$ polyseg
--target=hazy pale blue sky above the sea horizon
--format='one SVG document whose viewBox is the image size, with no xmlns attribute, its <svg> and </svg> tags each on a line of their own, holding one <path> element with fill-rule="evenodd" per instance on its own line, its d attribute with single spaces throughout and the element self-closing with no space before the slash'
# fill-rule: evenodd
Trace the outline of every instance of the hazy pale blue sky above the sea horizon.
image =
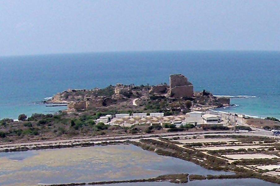
<svg viewBox="0 0 280 186">
<path fill-rule="evenodd" d="M 280 0 L 0 0 L 0 56 L 280 50 Z"/>
</svg>

